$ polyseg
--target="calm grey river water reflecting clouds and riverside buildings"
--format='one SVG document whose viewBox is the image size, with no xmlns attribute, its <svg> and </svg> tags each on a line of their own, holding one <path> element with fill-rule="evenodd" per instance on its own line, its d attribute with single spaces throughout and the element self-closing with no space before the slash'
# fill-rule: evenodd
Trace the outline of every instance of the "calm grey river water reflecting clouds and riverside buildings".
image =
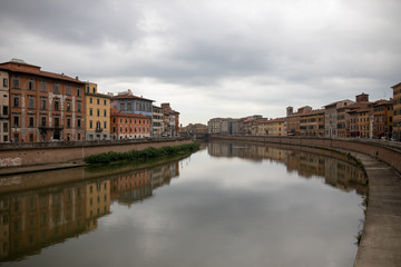
<svg viewBox="0 0 401 267">
<path fill-rule="evenodd" d="M 209 142 L 149 168 L 0 177 L 0 265 L 352 266 L 363 171 L 287 149 Z"/>
</svg>

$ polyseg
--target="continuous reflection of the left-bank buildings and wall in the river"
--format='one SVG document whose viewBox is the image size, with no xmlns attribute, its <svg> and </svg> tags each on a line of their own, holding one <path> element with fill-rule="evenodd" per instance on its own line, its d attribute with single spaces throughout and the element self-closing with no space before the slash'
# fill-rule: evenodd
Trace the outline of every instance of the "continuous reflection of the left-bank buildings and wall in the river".
<svg viewBox="0 0 401 267">
<path fill-rule="evenodd" d="M 43 247 L 92 231 L 98 219 L 110 214 L 113 201 L 130 207 L 169 184 L 178 171 L 175 161 L 111 178 L 94 179 L 96 175 L 82 168 L 0 178 L 0 260 L 39 254 Z M 62 184 L 68 179 L 72 182 Z"/>
</svg>

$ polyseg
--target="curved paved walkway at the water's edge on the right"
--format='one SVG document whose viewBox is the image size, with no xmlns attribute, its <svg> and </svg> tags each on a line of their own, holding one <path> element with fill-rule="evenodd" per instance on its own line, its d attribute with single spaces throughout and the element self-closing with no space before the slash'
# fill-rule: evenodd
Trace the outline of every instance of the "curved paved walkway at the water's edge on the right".
<svg viewBox="0 0 401 267">
<path fill-rule="evenodd" d="M 369 178 L 368 212 L 354 267 L 400 267 L 401 176 L 369 156 L 354 156 Z"/>
</svg>

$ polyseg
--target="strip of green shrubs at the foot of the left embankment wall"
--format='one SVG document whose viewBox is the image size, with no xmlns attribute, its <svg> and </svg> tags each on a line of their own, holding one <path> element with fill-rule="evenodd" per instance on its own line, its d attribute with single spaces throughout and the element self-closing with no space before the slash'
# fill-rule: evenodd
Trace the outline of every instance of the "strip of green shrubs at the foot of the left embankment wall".
<svg viewBox="0 0 401 267">
<path fill-rule="evenodd" d="M 85 157 L 85 162 L 89 165 L 111 164 L 117 161 L 145 161 L 149 159 L 172 157 L 178 154 L 194 152 L 199 149 L 198 142 L 180 145 L 176 147 L 146 148 L 144 150 L 131 150 L 128 152 L 106 152 Z"/>
</svg>

